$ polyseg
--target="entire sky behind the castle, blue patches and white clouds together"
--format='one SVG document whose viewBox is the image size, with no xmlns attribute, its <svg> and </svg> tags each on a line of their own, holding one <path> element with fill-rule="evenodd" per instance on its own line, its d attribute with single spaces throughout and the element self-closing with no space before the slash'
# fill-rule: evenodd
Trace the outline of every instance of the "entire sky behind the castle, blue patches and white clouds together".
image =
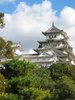
<svg viewBox="0 0 75 100">
<path fill-rule="evenodd" d="M 32 53 L 37 41 L 45 39 L 41 32 L 54 22 L 67 33 L 75 52 L 74 4 L 75 0 L 0 0 L 0 12 L 5 14 L 0 36 L 20 42 L 26 53 Z"/>
</svg>

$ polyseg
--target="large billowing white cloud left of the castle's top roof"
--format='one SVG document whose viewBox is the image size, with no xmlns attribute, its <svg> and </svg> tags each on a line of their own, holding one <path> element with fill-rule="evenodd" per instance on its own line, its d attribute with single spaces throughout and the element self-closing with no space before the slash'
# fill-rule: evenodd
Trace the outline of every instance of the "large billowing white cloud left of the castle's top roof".
<svg viewBox="0 0 75 100">
<path fill-rule="evenodd" d="M 54 12 L 49 1 L 34 4 L 31 7 L 21 2 L 13 14 L 5 14 L 6 25 L 5 29 L 1 30 L 2 36 L 6 39 L 21 41 L 25 49 L 35 48 L 37 40 L 44 37 L 41 31 L 52 22 L 53 16 Z"/>
</svg>

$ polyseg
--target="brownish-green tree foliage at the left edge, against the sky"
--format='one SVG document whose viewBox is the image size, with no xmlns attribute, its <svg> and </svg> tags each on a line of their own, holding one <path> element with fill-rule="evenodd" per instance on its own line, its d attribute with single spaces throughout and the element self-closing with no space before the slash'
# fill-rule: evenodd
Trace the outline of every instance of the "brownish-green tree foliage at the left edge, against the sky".
<svg viewBox="0 0 75 100">
<path fill-rule="evenodd" d="M 4 13 L 0 13 L 0 27 L 4 27 Z M 0 37 L 0 58 L 13 58 L 12 42 Z"/>
</svg>

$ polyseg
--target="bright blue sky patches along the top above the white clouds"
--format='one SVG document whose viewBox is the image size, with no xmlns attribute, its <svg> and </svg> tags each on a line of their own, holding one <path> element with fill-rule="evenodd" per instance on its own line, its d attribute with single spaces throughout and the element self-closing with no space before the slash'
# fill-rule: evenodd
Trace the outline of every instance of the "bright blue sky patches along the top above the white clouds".
<svg viewBox="0 0 75 100">
<path fill-rule="evenodd" d="M 16 0 L 15 2 L 4 2 L 0 3 L 0 12 L 4 13 L 13 13 L 16 9 L 16 6 L 20 2 L 26 2 L 27 5 L 32 6 L 34 3 L 38 4 L 44 0 Z M 59 15 L 60 11 L 65 7 L 69 6 L 75 9 L 75 0 L 50 0 L 52 3 L 52 7 L 54 10 L 57 10 L 57 15 Z"/>
</svg>

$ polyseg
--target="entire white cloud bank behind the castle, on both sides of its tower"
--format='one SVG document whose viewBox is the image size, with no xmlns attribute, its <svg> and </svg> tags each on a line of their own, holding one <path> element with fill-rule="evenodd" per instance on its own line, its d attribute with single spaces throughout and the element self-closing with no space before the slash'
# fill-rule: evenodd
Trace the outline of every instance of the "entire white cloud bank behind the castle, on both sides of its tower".
<svg viewBox="0 0 75 100">
<path fill-rule="evenodd" d="M 51 27 L 52 22 L 58 28 L 63 28 L 68 32 L 70 44 L 75 51 L 75 9 L 65 7 L 56 16 L 56 11 L 52 9 L 49 0 L 41 4 L 28 6 L 25 2 L 20 2 L 13 14 L 5 14 L 6 26 L 1 30 L 1 35 L 5 39 L 20 41 L 22 46 L 29 52 L 38 47 L 37 40 L 42 40 L 44 36 L 41 31 L 46 31 Z"/>
</svg>

